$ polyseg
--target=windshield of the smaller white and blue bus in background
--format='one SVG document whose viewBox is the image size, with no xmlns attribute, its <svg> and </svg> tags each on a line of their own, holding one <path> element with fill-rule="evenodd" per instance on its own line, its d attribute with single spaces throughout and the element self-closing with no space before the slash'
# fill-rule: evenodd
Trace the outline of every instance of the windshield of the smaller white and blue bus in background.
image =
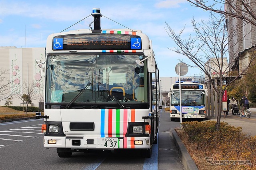
<svg viewBox="0 0 256 170">
<path fill-rule="evenodd" d="M 199 90 L 182 90 L 181 103 L 188 106 L 205 106 L 204 91 Z M 172 90 L 171 92 L 171 105 L 180 105 L 180 92 L 179 90 Z"/>
</svg>

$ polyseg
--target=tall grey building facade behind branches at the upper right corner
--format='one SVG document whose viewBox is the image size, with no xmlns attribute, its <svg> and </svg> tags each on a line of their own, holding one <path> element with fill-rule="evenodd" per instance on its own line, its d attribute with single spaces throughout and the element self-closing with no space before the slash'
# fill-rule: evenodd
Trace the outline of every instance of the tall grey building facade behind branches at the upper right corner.
<svg viewBox="0 0 256 170">
<path fill-rule="evenodd" d="M 246 10 L 241 4 L 241 0 L 229 1 L 229 3 L 232 3 L 236 8 L 226 3 L 225 10 L 227 12 L 236 14 L 239 10 L 240 13 L 243 13 L 247 18 L 252 18 L 249 14 L 242 12 Z M 252 11 L 256 10 L 256 0 L 246 1 L 246 3 L 250 5 Z M 231 69 L 232 71 L 241 73 L 248 66 L 250 57 L 255 51 L 256 26 L 243 21 L 241 18 L 232 16 L 227 16 L 226 21 L 229 40 L 229 61 L 232 63 Z"/>
</svg>

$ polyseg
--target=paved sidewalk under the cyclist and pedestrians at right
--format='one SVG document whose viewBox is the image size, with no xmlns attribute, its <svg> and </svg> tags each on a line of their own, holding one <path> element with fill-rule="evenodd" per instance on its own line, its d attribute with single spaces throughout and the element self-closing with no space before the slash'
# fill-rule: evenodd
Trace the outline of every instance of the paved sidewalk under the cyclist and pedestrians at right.
<svg viewBox="0 0 256 170">
<path fill-rule="evenodd" d="M 221 122 L 227 122 L 228 125 L 235 126 L 235 127 L 242 127 L 242 132 L 250 134 L 252 136 L 256 135 L 256 109 L 251 108 L 251 117 L 247 119 L 246 117 L 240 118 L 240 115 L 232 115 L 231 110 L 229 111 L 229 115 L 226 115 L 224 118 L 224 113 L 222 112 L 221 115 Z M 207 121 L 214 120 L 217 121 L 217 117 L 207 117 Z"/>
</svg>

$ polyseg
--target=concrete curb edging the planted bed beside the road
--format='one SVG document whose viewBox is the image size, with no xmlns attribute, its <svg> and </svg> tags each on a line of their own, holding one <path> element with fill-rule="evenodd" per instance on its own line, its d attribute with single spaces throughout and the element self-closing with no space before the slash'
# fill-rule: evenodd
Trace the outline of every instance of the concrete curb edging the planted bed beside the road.
<svg viewBox="0 0 256 170">
<path fill-rule="evenodd" d="M 178 150 L 178 154 L 180 156 L 180 160 L 185 168 L 185 170 L 198 170 L 194 160 L 191 158 L 190 154 L 188 153 L 187 148 L 182 143 L 180 137 L 178 136 L 177 132 L 174 128 L 171 128 L 170 135 L 172 140 Z"/>
</svg>

